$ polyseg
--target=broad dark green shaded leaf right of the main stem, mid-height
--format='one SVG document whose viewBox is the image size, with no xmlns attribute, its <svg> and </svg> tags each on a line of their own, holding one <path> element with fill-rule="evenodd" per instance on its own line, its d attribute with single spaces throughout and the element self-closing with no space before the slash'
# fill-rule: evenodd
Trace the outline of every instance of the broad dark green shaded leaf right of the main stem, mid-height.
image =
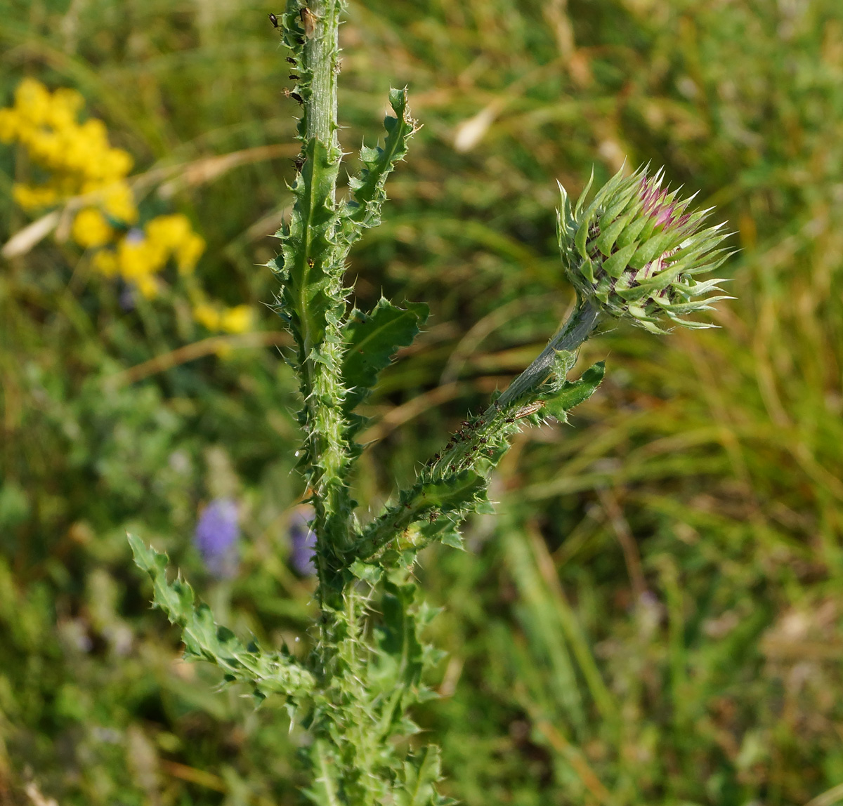
<svg viewBox="0 0 843 806">
<path fill-rule="evenodd" d="M 347 349 L 342 363 L 343 382 L 349 392 L 346 412 L 364 400 L 378 379 L 379 371 L 389 366 L 399 347 L 407 347 L 427 322 L 429 308 L 424 302 L 393 305 L 381 297 L 371 313 L 355 308 L 346 323 Z"/>
</svg>

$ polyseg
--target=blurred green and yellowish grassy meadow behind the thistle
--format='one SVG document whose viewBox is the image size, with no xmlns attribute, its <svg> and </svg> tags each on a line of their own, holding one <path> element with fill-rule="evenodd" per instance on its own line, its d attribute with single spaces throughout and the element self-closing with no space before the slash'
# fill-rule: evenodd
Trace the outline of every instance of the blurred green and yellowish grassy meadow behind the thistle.
<svg viewBox="0 0 843 806">
<path fill-rule="evenodd" d="M 77 88 L 136 173 L 169 167 L 144 209 L 191 218 L 202 283 L 259 312 L 257 335 L 208 342 L 177 297 L 121 308 L 72 243 L 0 264 L 0 803 L 298 803 L 303 736 L 180 662 L 125 538 L 168 550 L 239 633 L 308 643 L 298 403 L 258 265 L 295 152 L 253 151 L 292 143 L 296 113 L 271 11 L 0 0 L 0 105 L 25 76 Z M 839 0 L 353 0 L 341 36 L 346 151 L 379 136 L 389 83 L 423 123 L 349 271 L 361 307 L 432 306 L 370 401 L 373 507 L 570 306 L 556 179 L 577 194 L 592 165 L 663 163 L 741 249 L 720 329 L 607 328 L 581 356 L 607 380 L 573 427 L 521 435 L 497 517 L 470 523 L 468 552 L 424 555 L 448 657 L 420 718 L 444 791 L 843 801 Z M 11 200 L 28 170 L 0 147 L 3 242 L 30 220 Z M 222 581 L 192 544 L 220 497 L 243 527 Z"/>
</svg>

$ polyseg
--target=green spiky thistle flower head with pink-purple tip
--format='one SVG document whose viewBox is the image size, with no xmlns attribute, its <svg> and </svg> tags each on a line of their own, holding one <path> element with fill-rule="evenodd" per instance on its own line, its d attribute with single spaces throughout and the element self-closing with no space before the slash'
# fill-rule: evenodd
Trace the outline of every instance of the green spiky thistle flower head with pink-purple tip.
<svg viewBox="0 0 843 806">
<path fill-rule="evenodd" d="M 670 323 L 711 327 L 685 317 L 731 298 L 706 296 L 721 291 L 724 280 L 696 279 L 731 254 L 718 248 L 728 232 L 723 224 L 704 227 L 711 211 L 690 211 L 693 196 L 680 199 L 663 179 L 663 170 L 619 172 L 587 204 L 589 180 L 573 209 L 560 184 L 562 263 L 577 294 L 611 316 L 631 318 L 652 333 L 664 333 Z"/>
</svg>

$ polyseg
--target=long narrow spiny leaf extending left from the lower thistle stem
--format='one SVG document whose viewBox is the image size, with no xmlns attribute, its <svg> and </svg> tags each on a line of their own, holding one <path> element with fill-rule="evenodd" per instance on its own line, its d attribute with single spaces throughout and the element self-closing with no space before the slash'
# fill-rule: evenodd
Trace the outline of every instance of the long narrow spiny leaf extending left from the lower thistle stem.
<svg viewBox="0 0 843 806">
<path fill-rule="evenodd" d="M 267 652 L 256 644 L 244 647 L 228 627 L 217 626 L 207 605 L 196 606 L 189 584 L 180 578 L 172 583 L 167 581 L 166 554 L 147 547 L 137 536 L 128 538 L 135 563 L 153 580 L 154 606 L 181 627 L 186 655 L 216 664 L 227 681 L 243 681 L 254 686 L 259 701 L 270 693 L 295 697 L 313 691 L 315 681 L 308 670 L 287 655 Z"/>
</svg>

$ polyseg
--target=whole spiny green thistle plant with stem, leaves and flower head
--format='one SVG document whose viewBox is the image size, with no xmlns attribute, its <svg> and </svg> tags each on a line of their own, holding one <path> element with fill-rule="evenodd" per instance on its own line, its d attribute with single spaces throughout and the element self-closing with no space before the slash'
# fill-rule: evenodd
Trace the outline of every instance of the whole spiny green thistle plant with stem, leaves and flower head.
<svg viewBox="0 0 843 806">
<path fill-rule="evenodd" d="M 363 147 L 362 168 L 337 195 L 343 157 L 338 141 L 336 82 L 340 0 L 288 0 L 272 21 L 295 64 L 288 94 L 301 105 L 301 153 L 289 221 L 277 233 L 280 254 L 268 264 L 280 286 L 277 312 L 293 335 L 290 360 L 303 408 L 298 467 L 312 507 L 317 577 L 314 648 L 305 659 L 286 647 L 242 643 L 218 626 L 185 580 L 168 580 L 164 554 L 130 536 L 137 564 L 153 579 L 154 603 L 182 628 L 185 654 L 218 665 L 228 682 L 250 686 L 255 702 L 282 697 L 290 718 L 309 733 L 304 791 L 322 806 L 448 803 L 437 791 L 438 749 L 414 738 L 412 707 L 436 695 L 426 672 L 441 657 L 425 643 L 434 611 L 413 576 L 418 552 L 435 542 L 460 547 L 464 520 L 490 511 L 491 472 L 513 435 L 556 419 L 589 398 L 604 365 L 568 379 L 577 349 L 601 319 L 625 318 L 652 331 L 708 307 L 720 280 L 697 275 L 727 257 L 722 227 L 703 228 L 706 211 L 663 188 L 663 176 L 619 173 L 572 209 L 562 190 L 561 262 L 577 290 L 571 317 L 545 350 L 482 414 L 443 435 L 443 446 L 416 483 L 374 517 L 352 499 L 351 478 L 362 446 L 357 407 L 395 351 L 411 344 L 427 318 L 423 302 L 381 299 L 351 308 L 346 260 L 368 227 L 377 226 L 385 183 L 417 129 L 404 89 L 389 93 L 392 114 L 378 147 Z M 714 297 L 717 299 L 720 297 Z"/>
</svg>

